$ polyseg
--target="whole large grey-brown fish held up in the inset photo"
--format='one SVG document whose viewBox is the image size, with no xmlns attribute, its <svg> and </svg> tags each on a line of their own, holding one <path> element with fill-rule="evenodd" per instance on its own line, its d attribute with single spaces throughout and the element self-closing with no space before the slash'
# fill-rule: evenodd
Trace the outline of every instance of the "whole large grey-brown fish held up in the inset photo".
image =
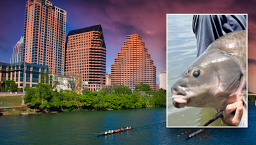
<svg viewBox="0 0 256 145">
<path fill-rule="evenodd" d="M 212 42 L 172 86 L 173 106 L 224 110 L 241 92 L 244 108 L 239 126 L 246 127 L 246 37 L 246 31 L 236 31 Z"/>
</svg>

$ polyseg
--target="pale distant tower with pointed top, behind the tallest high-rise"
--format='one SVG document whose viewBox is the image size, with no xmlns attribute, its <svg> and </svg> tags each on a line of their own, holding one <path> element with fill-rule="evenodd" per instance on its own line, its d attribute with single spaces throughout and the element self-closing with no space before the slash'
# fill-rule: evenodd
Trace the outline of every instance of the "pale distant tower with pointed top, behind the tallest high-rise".
<svg viewBox="0 0 256 145">
<path fill-rule="evenodd" d="M 23 37 L 21 36 L 20 41 L 16 43 L 16 45 L 13 47 L 13 53 L 12 58 L 10 59 L 10 63 L 19 63 L 22 60 L 22 53 L 23 53 Z"/>
</svg>

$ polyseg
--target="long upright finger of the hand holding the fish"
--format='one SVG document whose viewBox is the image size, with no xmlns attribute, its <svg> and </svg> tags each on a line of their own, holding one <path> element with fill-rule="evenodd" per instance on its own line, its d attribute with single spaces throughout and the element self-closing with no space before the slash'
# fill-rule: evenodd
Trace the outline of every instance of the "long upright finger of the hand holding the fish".
<svg viewBox="0 0 256 145">
<path fill-rule="evenodd" d="M 243 115 L 243 99 L 242 93 L 237 94 L 237 109 L 234 118 L 232 119 L 232 123 L 234 125 L 239 125 L 241 117 Z"/>
</svg>

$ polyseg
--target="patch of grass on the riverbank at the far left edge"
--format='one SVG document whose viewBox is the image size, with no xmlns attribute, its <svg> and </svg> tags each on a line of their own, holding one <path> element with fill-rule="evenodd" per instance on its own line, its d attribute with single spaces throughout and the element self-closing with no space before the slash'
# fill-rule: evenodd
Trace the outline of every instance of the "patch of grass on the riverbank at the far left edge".
<svg viewBox="0 0 256 145">
<path fill-rule="evenodd" d="M 22 106 L 21 104 L 22 104 L 21 95 L 0 97 L 0 107 Z"/>
</svg>

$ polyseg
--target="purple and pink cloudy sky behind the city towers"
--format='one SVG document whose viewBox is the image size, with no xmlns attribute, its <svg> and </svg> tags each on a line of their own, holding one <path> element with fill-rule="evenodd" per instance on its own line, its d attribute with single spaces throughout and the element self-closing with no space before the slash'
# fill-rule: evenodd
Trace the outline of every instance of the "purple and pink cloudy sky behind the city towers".
<svg viewBox="0 0 256 145">
<path fill-rule="evenodd" d="M 124 46 L 126 36 L 139 34 L 159 72 L 166 71 L 166 13 L 248 13 L 248 86 L 256 92 L 256 2 L 227 1 L 154 1 L 154 0 L 51 0 L 67 11 L 67 32 L 102 25 L 107 47 L 106 71 Z M 225 3 L 224 3 L 225 2 Z M 13 46 L 23 35 L 26 0 L 1 1 L 0 62 L 10 62 Z M 67 36 L 67 34 L 66 34 Z M 255 78 L 255 79 L 254 79 Z"/>
</svg>

